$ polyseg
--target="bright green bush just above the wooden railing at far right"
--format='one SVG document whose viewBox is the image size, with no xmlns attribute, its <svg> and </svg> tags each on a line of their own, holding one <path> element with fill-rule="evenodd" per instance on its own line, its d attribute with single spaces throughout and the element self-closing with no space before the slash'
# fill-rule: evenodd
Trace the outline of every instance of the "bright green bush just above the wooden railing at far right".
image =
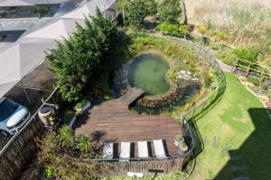
<svg viewBox="0 0 271 180">
<path fill-rule="evenodd" d="M 257 56 L 259 54 L 259 49 L 248 47 L 248 48 L 238 48 L 234 49 L 234 53 L 237 58 L 248 60 L 250 62 L 256 62 Z"/>
</svg>

